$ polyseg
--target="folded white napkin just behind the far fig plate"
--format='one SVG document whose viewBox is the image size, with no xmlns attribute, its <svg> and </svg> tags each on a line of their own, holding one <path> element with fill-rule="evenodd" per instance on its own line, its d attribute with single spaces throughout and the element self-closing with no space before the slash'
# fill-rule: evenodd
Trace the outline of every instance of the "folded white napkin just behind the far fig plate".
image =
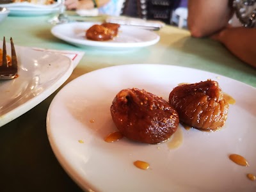
<svg viewBox="0 0 256 192">
<path fill-rule="evenodd" d="M 107 17 L 106 22 L 112 22 L 116 24 L 138 26 L 145 29 L 161 29 L 165 25 L 160 20 L 144 20 L 132 17 Z"/>
</svg>

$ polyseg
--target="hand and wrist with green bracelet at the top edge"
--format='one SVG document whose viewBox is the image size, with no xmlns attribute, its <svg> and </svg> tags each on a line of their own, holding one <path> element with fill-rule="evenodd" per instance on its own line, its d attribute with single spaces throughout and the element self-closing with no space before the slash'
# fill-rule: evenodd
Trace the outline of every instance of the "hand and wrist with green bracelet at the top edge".
<svg viewBox="0 0 256 192">
<path fill-rule="evenodd" d="M 97 6 L 101 7 L 104 6 L 109 2 L 109 0 L 96 0 Z M 85 9 L 85 10 L 90 10 L 94 8 L 94 3 L 93 0 L 66 0 L 65 5 L 67 7 L 67 10 L 72 10 L 72 9 Z"/>
</svg>

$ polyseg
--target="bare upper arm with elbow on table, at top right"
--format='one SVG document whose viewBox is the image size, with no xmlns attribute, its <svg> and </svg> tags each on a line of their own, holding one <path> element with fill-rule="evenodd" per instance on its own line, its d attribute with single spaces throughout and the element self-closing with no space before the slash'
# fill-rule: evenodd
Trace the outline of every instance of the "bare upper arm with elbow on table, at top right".
<svg viewBox="0 0 256 192">
<path fill-rule="evenodd" d="M 228 0 L 189 0 L 188 28 L 194 37 L 209 36 L 224 28 L 232 16 Z"/>
</svg>

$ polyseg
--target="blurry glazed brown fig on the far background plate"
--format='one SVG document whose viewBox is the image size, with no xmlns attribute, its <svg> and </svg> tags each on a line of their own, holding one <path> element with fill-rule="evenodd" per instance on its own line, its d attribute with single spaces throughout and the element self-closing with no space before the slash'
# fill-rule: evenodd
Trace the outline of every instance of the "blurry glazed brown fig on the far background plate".
<svg viewBox="0 0 256 192">
<path fill-rule="evenodd" d="M 113 39 L 117 33 L 119 24 L 95 24 L 86 31 L 86 38 L 94 41 L 106 41 Z"/>
</svg>

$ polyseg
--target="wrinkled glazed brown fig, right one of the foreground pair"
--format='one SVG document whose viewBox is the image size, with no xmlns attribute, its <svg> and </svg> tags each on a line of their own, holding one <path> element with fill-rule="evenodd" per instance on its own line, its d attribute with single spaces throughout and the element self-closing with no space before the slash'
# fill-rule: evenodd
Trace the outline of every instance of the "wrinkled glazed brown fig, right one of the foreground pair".
<svg viewBox="0 0 256 192">
<path fill-rule="evenodd" d="M 228 114 L 228 102 L 218 82 L 211 79 L 175 87 L 169 102 L 177 110 L 180 122 L 202 131 L 220 129 Z"/>
</svg>

